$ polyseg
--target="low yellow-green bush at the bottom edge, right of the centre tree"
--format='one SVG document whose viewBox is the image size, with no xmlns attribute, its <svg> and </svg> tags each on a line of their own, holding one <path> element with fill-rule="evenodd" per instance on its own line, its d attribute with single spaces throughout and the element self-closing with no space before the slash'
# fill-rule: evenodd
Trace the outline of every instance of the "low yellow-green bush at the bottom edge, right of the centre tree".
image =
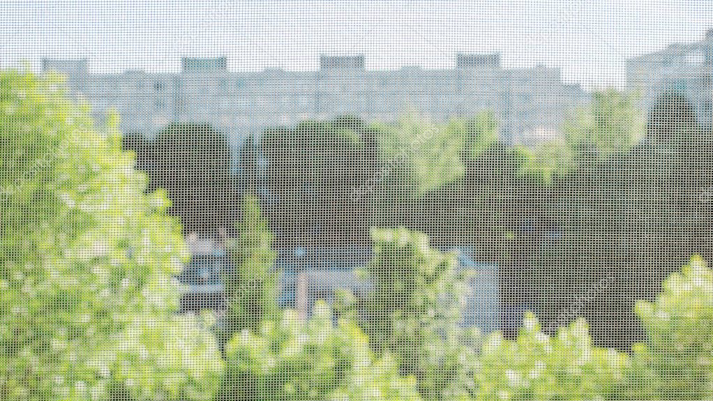
<svg viewBox="0 0 713 401">
<path fill-rule="evenodd" d="M 596 348 L 578 320 L 550 337 L 525 317 L 517 340 L 493 333 L 476 368 L 477 400 L 607 400 L 627 367 L 627 355 Z"/>
</svg>

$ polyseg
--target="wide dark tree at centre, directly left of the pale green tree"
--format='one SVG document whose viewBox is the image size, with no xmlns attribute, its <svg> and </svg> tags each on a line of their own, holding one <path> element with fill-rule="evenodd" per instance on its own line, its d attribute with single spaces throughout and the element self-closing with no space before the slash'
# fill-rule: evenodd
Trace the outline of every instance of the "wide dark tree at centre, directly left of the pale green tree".
<svg viewBox="0 0 713 401">
<path fill-rule="evenodd" d="M 265 212 L 274 231 L 297 241 L 365 237 L 379 175 L 376 132 L 358 118 L 304 121 L 266 130 L 260 138 Z"/>
</svg>

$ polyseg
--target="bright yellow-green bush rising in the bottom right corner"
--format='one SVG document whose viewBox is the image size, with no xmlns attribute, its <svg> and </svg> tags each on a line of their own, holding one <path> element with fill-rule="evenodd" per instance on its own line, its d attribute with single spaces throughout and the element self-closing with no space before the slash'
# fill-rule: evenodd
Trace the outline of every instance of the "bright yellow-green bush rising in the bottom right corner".
<svg viewBox="0 0 713 401">
<path fill-rule="evenodd" d="M 627 398 L 713 397 L 713 272 L 703 259 L 694 256 L 655 302 L 637 303 L 636 313 L 647 341 L 634 346 Z"/>
</svg>

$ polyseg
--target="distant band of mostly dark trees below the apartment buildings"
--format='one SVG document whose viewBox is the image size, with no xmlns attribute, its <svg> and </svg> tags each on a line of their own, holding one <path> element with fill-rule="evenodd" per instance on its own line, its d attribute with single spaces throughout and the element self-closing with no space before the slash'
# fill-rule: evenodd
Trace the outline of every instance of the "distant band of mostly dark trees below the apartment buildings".
<svg viewBox="0 0 713 401">
<path fill-rule="evenodd" d="M 237 174 L 227 140 L 207 125 L 128 135 L 124 147 L 149 189 L 167 190 L 186 231 L 230 235 L 248 193 L 277 246 L 368 244 L 372 226 L 418 229 L 501 266 L 504 306 L 533 308 L 550 331 L 585 316 L 602 345 L 640 340 L 635 300 L 652 299 L 691 254 L 713 256 L 713 133 L 677 93 L 646 116 L 630 95 L 595 93 L 560 137 L 534 148 L 498 140 L 490 113 L 277 127 L 245 141 Z"/>
</svg>

